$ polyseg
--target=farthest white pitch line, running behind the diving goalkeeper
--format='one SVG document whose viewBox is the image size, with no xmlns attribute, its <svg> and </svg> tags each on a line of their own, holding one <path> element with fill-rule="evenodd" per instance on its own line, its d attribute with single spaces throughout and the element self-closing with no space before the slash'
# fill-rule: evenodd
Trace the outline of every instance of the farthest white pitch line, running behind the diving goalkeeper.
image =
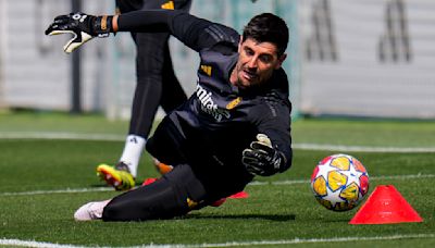
<svg viewBox="0 0 435 248">
<path fill-rule="evenodd" d="M 124 141 L 123 135 L 111 134 L 77 134 L 63 132 L 0 132 L 0 139 L 70 139 L 96 141 Z M 339 146 L 331 144 L 293 144 L 297 150 L 320 150 L 341 152 L 397 152 L 418 153 L 435 152 L 435 147 L 372 147 L 372 146 Z"/>
</svg>

